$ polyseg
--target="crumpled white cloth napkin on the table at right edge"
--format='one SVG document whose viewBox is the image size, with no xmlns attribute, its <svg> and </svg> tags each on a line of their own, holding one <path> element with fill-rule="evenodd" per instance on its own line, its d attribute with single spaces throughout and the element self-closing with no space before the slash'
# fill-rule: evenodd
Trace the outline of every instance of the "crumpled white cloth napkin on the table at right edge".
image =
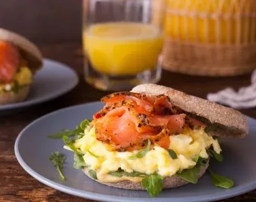
<svg viewBox="0 0 256 202">
<path fill-rule="evenodd" d="M 235 91 L 225 88 L 217 93 L 209 93 L 207 99 L 236 109 L 256 106 L 256 70 L 252 74 L 252 84 Z"/>
</svg>

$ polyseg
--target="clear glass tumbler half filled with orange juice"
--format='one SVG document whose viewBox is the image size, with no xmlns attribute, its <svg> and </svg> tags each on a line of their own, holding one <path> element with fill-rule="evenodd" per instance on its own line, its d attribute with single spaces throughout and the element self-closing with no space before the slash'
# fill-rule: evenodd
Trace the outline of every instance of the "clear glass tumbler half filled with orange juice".
<svg viewBox="0 0 256 202">
<path fill-rule="evenodd" d="M 83 0 L 86 82 L 120 91 L 159 81 L 163 23 L 156 19 L 160 14 L 152 14 L 156 1 Z"/>
</svg>

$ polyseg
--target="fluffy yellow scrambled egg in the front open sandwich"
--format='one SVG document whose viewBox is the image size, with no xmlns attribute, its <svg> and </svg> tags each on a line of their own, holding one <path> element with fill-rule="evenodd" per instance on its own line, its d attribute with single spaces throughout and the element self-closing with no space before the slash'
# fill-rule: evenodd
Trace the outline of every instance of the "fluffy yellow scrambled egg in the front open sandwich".
<svg viewBox="0 0 256 202">
<path fill-rule="evenodd" d="M 213 139 L 204 132 L 204 128 L 198 130 L 187 130 L 182 134 L 170 136 L 170 146 L 177 159 L 172 159 L 167 150 L 154 145 L 151 150 L 141 159 L 131 160 L 129 157 L 134 152 L 109 152 L 104 144 L 96 139 L 95 128 L 84 131 L 84 137 L 78 139 L 74 146 L 85 152 L 84 162 L 90 169 L 97 172 L 97 178 L 101 182 L 120 182 L 122 180 L 131 180 L 140 182 L 141 177 L 116 177 L 108 175 L 111 171 L 123 169 L 127 173 L 138 171 L 150 175 L 158 173 L 161 176 L 172 176 L 179 169 L 188 169 L 196 165 L 194 161 L 196 156 L 207 159 L 209 156 L 206 149 L 211 145 L 216 153 L 221 152 L 218 140 Z M 87 152 L 90 151 L 90 152 Z M 99 156 L 98 158 L 92 155 Z"/>
</svg>

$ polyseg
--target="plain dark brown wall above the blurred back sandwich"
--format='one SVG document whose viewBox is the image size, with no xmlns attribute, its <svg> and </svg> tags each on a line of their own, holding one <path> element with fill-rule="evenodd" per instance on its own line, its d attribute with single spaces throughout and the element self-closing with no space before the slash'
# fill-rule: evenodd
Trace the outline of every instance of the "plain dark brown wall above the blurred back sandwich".
<svg viewBox="0 0 256 202">
<path fill-rule="evenodd" d="M 36 43 L 74 42 L 81 40 L 81 4 L 80 0 L 0 1 L 0 27 Z"/>
</svg>

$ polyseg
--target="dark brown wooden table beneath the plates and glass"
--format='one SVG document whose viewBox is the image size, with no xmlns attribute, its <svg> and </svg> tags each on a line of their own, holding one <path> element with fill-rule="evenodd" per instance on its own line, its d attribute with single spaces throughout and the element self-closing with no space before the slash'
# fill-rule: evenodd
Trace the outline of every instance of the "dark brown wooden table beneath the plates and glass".
<svg viewBox="0 0 256 202">
<path fill-rule="evenodd" d="M 29 176 L 15 159 L 13 150 L 15 139 L 20 130 L 26 127 L 28 123 L 56 109 L 96 101 L 109 93 L 98 91 L 84 82 L 81 42 L 42 43 L 40 48 L 45 58 L 56 59 L 72 66 L 78 72 L 80 82 L 74 90 L 55 100 L 29 107 L 16 114 L 0 117 L 0 201 L 90 201 L 45 186 Z M 210 91 L 214 92 L 227 86 L 239 88 L 250 84 L 250 75 L 206 78 L 172 74 L 164 71 L 160 84 L 172 86 L 172 88 L 205 98 L 205 95 Z M 256 118 L 255 109 L 246 109 L 242 112 Z M 223 201 L 248 200 L 256 201 L 256 190 Z"/>
</svg>

